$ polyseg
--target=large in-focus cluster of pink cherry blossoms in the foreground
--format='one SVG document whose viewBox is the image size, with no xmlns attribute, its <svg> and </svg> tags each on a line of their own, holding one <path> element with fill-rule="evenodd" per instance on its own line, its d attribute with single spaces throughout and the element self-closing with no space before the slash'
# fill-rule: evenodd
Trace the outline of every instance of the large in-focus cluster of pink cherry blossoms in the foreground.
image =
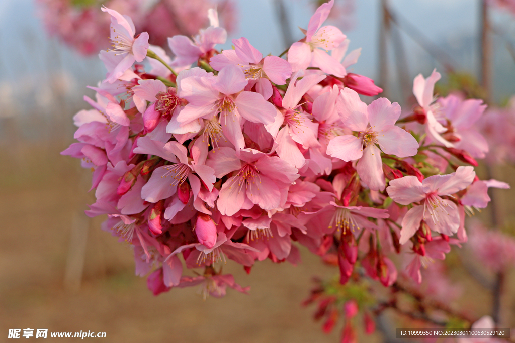
<svg viewBox="0 0 515 343">
<path fill-rule="evenodd" d="M 333 3 L 287 59 L 263 57 L 246 38 L 217 50 L 227 33 L 210 10 L 194 40 L 169 38 L 171 60 L 129 17 L 102 8 L 112 21 L 106 79 L 84 98 L 93 109 L 75 115 L 79 142 L 62 154 L 93 170 L 87 214 L 108 215 L 103 228 L 133 246 L 154 294 L 246 292 L 218 262 L 248 273 L 265 259 L 296 264 L 297 244 L 338 265 L 340 283 L 361 265 L 391 286 L 398 266 L 388 256 L 398 254 L 420 283 L 421 265 L 467 240 L 465 213 L 487 205 L 488 187 L 507 186 L 474 172 L 488 146 L 471 125 L 485 105 L 435 101 L 436 71 L 415 79 L 419 106 L 402 119 L 397 103 L 362 101 L 382 90 L 348 73 L 361 50 L 347 54 L 346 35 L 323 26 Z M 396 124 L 408 122 L 421 130 Z"/>
</svg>

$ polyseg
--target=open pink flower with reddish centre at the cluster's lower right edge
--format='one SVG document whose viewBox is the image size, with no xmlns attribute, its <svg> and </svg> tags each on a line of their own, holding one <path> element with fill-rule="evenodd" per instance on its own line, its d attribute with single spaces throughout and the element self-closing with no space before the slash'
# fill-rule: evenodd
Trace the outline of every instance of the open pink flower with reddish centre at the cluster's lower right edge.
<svg viewBox="0 0 515 343">
<path fill-rule="evenodd" d="M 400 243 L 404 244 L 420 227 L 423 220 L 433 231 L 452 234 L 458 231 L 460 225 L 459 212 L 456 204 L 441 198 L 451 196 L 467 188 L 474 180 L 476 173 L 473 167 L 458 167 L 455 173 L 433 175 L 422 182 L 415 176 L 404 176 L 390 181 L 386 189 L 394 202 L 401 205 L 415 205 L 402 220 Z"/>
</svg>

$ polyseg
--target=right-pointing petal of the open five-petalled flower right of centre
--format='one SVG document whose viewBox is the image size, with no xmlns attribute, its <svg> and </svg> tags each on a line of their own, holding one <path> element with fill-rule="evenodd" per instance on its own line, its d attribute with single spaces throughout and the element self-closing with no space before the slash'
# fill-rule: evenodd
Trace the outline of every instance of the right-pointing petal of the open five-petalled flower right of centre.
<svg viewBox="0 0 515 343">
<path fill-rule="evenodd" d="M 377 131 L 376 139 L 385 154 L 399 157 L 415 156 L 419 147 L 415 137 L 396 125 L 387 125 Z"/>
</svg>

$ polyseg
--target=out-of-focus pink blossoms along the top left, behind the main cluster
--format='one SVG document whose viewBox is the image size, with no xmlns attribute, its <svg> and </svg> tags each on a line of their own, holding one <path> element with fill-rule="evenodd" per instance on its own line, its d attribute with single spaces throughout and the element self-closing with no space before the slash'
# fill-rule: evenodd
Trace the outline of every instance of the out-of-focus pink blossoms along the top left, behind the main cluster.
<svg viewBox="0 0 515 343">
<path fill-rule="evenodd" d="M 100 11 L 105 4 L 117 12 L 128 15 L 138 27 L 138 33 L 147 31 L 150 44 L 165 46 L 171 35 L 194 35 L 208 22 L 205 15 L 217 5 L 224 22 L 234 23 L 234 5 L 229 0 L 37 0 L 39 14 L 46 30 L 83 55 L 92 55 L 107 49 L 110 17 Z"/>
</svg>

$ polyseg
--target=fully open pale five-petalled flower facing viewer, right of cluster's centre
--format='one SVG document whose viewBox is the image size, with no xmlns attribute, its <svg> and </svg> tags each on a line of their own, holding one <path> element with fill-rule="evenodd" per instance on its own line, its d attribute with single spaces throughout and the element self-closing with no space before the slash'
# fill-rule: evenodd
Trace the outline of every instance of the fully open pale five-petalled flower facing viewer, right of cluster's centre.
<svg viewBox="0 0 515 343">
<path fill-rule="evenodd" d="M 343 135 L 333 138 L 327 153 L 344 161 L 359 159 L 356 170 L 371 190 L 384 190 L 385 177 L 381 151 L 399 157 L 413 156 L 419 147 L 417 140 L 395 122 L 401 107 L 386 98 L 373 101 L 368 107 L 352 89 L 340 93 L 338 114 L 346 127 L 358 136 Z M 377 148 L 379 145 L 379 148 Z"/>
</svg>

